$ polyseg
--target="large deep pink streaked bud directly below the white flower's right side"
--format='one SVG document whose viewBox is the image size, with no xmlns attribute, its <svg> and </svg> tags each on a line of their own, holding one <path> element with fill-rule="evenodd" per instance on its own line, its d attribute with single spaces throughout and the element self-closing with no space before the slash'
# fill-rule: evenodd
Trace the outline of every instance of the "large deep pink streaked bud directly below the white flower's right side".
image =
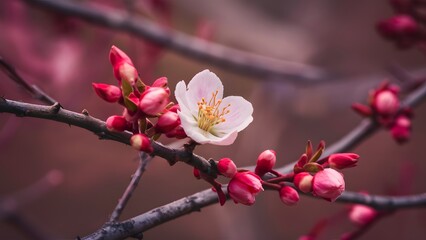
<svg viewBox="0 0 426 240">
<path fill-rule="evenodd" d="M 254 204 L 255 196 L 262 190 L 260 178 L 253 172 L 237 172 L 228 184 L 232 200 L 248 206 Z"/>
</svg>

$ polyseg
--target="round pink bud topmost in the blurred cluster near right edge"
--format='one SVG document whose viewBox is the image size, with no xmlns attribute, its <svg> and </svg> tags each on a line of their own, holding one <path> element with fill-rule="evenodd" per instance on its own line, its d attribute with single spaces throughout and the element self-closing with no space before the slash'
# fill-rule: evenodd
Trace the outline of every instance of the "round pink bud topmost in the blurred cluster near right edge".
<svg viewBox="0 0 426 240">
<path fill-rule="evenodd" d="M 380 91 L 373 100 L 373 107 L 378 114 L 393 115 L 399 110 L 399 98 L 391 91 Z"/>
</svg>

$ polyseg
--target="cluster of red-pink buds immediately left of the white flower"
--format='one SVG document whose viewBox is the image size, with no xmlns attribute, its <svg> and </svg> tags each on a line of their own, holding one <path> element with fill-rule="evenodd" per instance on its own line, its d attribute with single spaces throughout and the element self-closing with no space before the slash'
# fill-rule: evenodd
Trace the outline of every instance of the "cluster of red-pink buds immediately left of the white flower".
<svg viewBox="0 0 426 240">
<path fill-rule="evenodd" d="M 161 77 L 151 86 L 139 77 L 132 60 L 116 46 L 111 47 L 109 60 L 118 86 L 92 83 L 96 94 L 110 103 L 124 107 L 122 115 L 113 115 L 106 120 L 110 131 L 130 131 L 130 144 L 139 151 L 151 153 L 151 139 L 161 134 L 167 137 L 185 138 L 177 111 L 179 105 L 169 100 L 167 78 Z"/>
</svg>

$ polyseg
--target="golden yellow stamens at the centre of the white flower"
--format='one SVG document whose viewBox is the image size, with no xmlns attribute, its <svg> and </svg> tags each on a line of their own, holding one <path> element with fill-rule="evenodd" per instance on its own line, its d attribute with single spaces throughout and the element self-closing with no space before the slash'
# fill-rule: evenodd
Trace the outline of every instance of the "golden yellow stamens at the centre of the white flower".
<svg viewBox="0 0 426 240">
<path fill-rule="evenodd" d="M 217 99 L 217 93 L 212 93 L 210 100 L 207 102 L 204 98 L 198 104 L 198 127 L 204 131 L 210 132 L 213 126 L 226 121 L 225 115 L 230 112 L 228 109 L 231 104 L 225 107 L 220 106 L 222 99 Z"/>
</svg>

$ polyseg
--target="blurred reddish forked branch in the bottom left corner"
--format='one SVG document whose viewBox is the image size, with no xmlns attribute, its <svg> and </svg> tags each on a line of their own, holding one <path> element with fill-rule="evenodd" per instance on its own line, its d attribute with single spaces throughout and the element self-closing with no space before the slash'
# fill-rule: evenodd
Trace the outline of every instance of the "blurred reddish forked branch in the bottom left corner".
<svg viewBox="0 0 426 240">
<path fill-rule="evenodd" d="M 15 226 L 30 239 L 49 239 L 35 226 L 18 213 L 19 208 L 33 202 L 46 192 L 62 183 L 63 175 L 58 170 L 51 170 L 42 179 L 25 189 L 0 198 L 0 220 Z"/>
</svg>

